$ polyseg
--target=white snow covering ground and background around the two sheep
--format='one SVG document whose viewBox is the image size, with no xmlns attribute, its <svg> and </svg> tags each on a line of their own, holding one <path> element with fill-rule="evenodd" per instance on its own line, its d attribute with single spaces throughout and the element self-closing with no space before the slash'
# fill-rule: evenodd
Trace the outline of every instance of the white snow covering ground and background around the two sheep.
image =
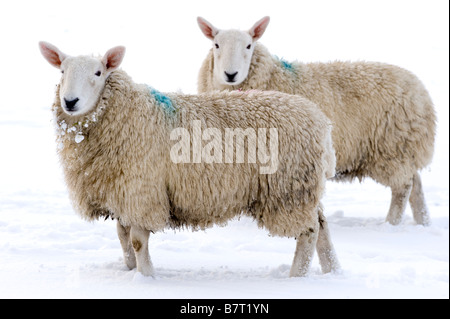
<svg viewBox="0 0 450 319">
<path fill-rule="evenodd" d="M 448 1 L 107 3 L 0 4 L 0 298 L 449 298 Z M 260 41 L 286 60 L 375 60 L 422 79 L 439 119 L 434 160 L 421 174 L 432 225 L 416 225 L 409 207 L 401 225 L 386 224 L 390 191 L 371 180 L 330 182 L 337 274 L 322 274 L 315 256 L 307 277 L 289 278 L 295 241 L 248 218 L 152 234 L 156 276 L 128 270 L 115 222 L 86 222 L 70 205 L 50 110 L 60 74 L 38 41 L 74 55 L 125 45 L 122 66 L 137 82 L 195 93 L 211 45 L 196 17 L 246 29 L 268 14 Z"/>
</svg>

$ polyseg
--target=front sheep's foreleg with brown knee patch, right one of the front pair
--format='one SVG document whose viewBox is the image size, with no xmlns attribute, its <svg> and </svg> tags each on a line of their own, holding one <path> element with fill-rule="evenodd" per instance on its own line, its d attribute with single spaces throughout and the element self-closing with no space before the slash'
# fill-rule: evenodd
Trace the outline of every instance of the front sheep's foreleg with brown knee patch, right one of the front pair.
<svg viewBox="0 0 450 319">
<path fill-rule="evenodd" d="M 144 276 L 153 275 L 153 265 L 148 253 L 150 231 L 138 226 L 131 226 L 131 245 L 136 255 L 137 270 Z"/>
</svg>

